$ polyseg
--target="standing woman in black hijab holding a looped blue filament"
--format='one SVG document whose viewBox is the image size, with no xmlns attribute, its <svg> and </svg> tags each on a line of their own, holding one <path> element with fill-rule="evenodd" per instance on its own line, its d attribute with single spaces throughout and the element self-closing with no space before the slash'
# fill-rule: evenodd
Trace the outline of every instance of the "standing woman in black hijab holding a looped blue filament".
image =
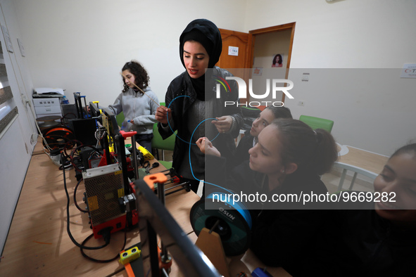
<svg viewBox="0 0 416 277">
<path fill-rule="evenodd" d="M 231 155 L 235 150 L 234 138 L 243 122 L 235 81 L 228 80 L 227 91 L 221 87 L 220 95 L 216 91 L 215 79 L 232 76 L 215 66 L 221 51 L 221 34 L 213 22 L 206 19 L 190 22 L 179 37 L 179 57 L 186 70 L 170 83 L 165 95 L 166 107 L 160 106 L 156 111 L 163 139 L 177 131 L 172 166 L 184 179 L 189 179 L 195 192 L 198 180 L 204 179 L 205 174 L 204 155 L 196 141 L 208 137 L 222 155 Z"/>
</svg>

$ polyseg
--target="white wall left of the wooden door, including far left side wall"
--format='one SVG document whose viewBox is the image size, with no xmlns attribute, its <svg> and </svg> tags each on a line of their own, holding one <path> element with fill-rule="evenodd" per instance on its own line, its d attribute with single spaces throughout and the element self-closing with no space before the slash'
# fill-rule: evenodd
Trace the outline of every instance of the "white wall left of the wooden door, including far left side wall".
<svg viewBox="0 0 416 277">
<path fill-rule="evenodd" d="M 207 18 L 232 30 L 244 25 L 239 15 L 244 14 L 245 1 L 244 5 L 239 0 L 195 3 L 0 0 L 0 24 L 7 25 L 14 48 L 8 53 L 3 44 L 6 69 L 19 110 L 0 141 L 1 251 L 33 152 L 30 136 L 37 132 L 31 107 L 22 98 L 32 101 L 36 87 L 62 87 L 71 103 L 73 92 L 80 91 L 87 101 L 111 104 L 122 88 L 122 65 L 136 59 L 144 64 L 153 91 L 164 101 L 168 84 L 184 70 L 178 41 L 191 20 Z M 25 57 L 17 38 L 23 41 Z"/>
</svg>

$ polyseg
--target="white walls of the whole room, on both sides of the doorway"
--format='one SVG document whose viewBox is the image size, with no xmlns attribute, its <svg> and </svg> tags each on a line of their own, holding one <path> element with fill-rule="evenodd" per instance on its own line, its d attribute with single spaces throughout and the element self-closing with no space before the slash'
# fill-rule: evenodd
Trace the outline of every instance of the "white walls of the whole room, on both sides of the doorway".
<svg viewBox="0 0 416 277">
<path fill-rule="evenodd" d="M 25 58 L 15 51 L 7 61 L 15 66 L 18 76 L 11 81 L 16 99 L 23 92 L 30 94 L 34 87 L 58 86 L 66 89 L 71 103 L 73 92 L 80 91 L 87 101 L 108 105 L 120 92 L 122 65 L 134 58 L 149 71 L 152 89 L 163 101 L 170 81 L 184 70 L 179 61 L 179 34 L 195 18 L 208 18 L 220 28 L 240 32 L 296 22 L 291 67 L 310 72 L 315 68 L 401 68 L 403 63 L 416 63 L 414 0 L 0 3 L 13 46 L 18 50 L 15 39 L 19 37 L 26 50 Z M 301 72 L 294 71 L 289 79 L 297 82 Z M 386 94 L 374 79 L 360 79 L 358 84 L 364 86 L 360 91 L 354 89 L 353 82 L 334 77 L 320 94 L 327 77 L 322 72 L 313 73 L 310 82 L 298 86 L 295 101 L 286 103 L 295 117 L 308 114 L 332 118 L 333 134 L 341 143 L 386 155 L 415 137 L 415 90 L 411 90 L 416 87 L 415 79 L 383 73 L 391 93 Z M 305 106 L 296 105 L 298 100 L 305 101 Z M 20 99 L 16 105 L 20 115 L 0 146 L 0 174 L 6 176 L 0 186 L 0 247 L 8 228 L 4 222 L 13 214 L 32 151 L 23 149 L 30 143 L 34 120 Z M 367 120 L 365 124 L 351 127 L 363 119 Z M 13 158 L 6 164 L 4 157 Z M 13 192 L 9 192 L 12 186 Z"/>
</svg>

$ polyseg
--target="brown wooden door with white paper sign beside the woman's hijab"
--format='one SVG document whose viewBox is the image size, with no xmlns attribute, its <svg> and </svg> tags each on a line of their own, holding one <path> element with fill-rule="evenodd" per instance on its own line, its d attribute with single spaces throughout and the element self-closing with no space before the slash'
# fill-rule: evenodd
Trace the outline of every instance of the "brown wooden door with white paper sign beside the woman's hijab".
<svg viewBox="0 0 416 277">
<path fill-rule="evenodd" d="M 251 68 L 253 65 L 252 55 L 252 35 L 245 32 L 237 32 L 232 30 L 220 29 L 222 37 L 222 54 L 217 65 L 221 68 L 229 70 L 234 76 L 241 77 L 248 84 L 247 70 L 244 68 Z M 238 48 L 238 56 L 229 55 L 229 47 Z M 241 69 L 241 70 L 239 70 Z M 241 98 L 240 102 L 244 103 L 246 98 Z"/>
</svg>

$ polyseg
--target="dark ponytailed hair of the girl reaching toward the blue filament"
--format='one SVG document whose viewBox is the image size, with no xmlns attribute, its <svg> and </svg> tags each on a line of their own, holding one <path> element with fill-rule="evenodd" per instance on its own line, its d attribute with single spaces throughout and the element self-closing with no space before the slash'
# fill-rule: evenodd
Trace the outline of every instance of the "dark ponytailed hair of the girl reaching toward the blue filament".
<svg viewBox="0 0 416 277">
<path fill-rule="evenodd" d="M 294 162 L 298 170 L 322 175 L 329 172 L 338 158 L 336 143 L 324 129 L 310 128 L 300 120 L 277 119 L 272 122 L 281 135 L 282 162 Z"/>
</svg>

